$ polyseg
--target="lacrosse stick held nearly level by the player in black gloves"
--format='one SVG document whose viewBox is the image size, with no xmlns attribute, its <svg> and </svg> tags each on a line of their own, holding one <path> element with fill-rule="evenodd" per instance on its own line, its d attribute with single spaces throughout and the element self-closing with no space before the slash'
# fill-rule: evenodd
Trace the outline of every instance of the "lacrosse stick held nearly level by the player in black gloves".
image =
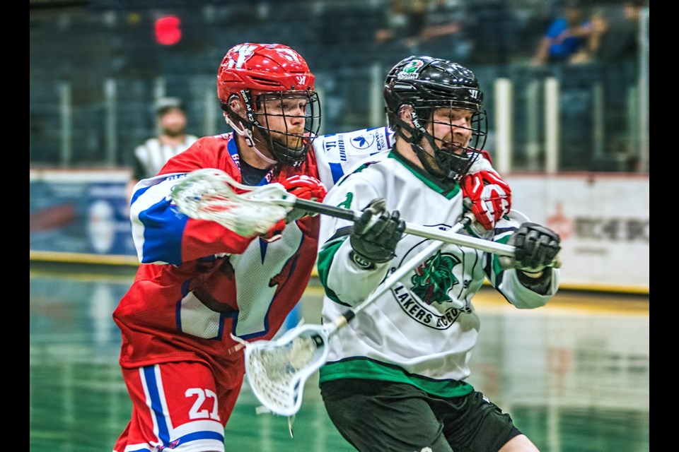
<svg viewBox="0 0 679 452">
<path fill-rule="evenodd" d="M 246 186 L 239 184 L 225 172 L 211 168 L 197 169 L 187 174 L 174 187 L 171 197 L 185 215 L 219 222 L 244 237 L 265 234 L 293 209 L 349 221 L 361 218 L 361 212 L 299 199 L 289 194 L 282 184 Z M 498 256 L 514 257 L 513 246 L 457 234 L 460 229 L 442 231 L 406 222 L 404 232 L 440 242 L 470 246 Z"/>
</svg>

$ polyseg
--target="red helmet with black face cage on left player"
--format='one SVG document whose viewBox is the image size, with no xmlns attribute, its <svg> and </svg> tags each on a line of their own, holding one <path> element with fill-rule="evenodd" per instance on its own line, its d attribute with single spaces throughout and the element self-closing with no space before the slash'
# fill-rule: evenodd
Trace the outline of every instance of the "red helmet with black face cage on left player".
<svg viewBox="0 0 679 452">
<path fill-rule="evenodd" d="M 284 165 L 298 165 L 306 159 L 311 141 L 318 135 L 320 128 L 320 105 L 314 91 L 314 81 L 315 76 L 309 71 L 306 61 L 291 47 L 245 42 L 232 47 L 221 61 L 217 73 L 217 97 L 232 121 L 240 121 L 250 133 L 253 129 L 262 133 L 265 141 L 257 140 L 257 136 L 254 137 L 255 141 L 266 145 L 279 162 Z M 262 95 L 265 97 L 260 99 Z M 245 116 L 233 112 L 229 107 L 228 102 L 233 96 L 242 100 L 246 109 Z M 272 129 L 269 129 L 265 119 L 274 114 L 265 111 L 260 101 L 276 98 L 306 100 L 304 135 L 307 138 L 303 143 L 298 135 L 288 134 L 286 131 L 276 132 L 290 138 L 283 141 L 272 139 Z"/>
</svg>

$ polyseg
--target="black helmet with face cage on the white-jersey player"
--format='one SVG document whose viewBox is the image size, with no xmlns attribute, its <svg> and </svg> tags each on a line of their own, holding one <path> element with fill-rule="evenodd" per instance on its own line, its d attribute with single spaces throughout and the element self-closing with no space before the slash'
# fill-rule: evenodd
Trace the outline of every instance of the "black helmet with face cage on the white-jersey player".
<svg viewBox="0 0 679 452">
<path fill-rule="evenodd" d="M 410 142 L 425 169 L 435 177 L 459 181 L 480 155 L 486 140 L 487 122 L 483 108 L 483 93 L 479 81 L 472 71 L 445 59 L 426 56 L 412 56 L 400 61 L 389 71 L 384 83 L 389 126 L 406 141 Z M 400 108 L 410 105 L 413 110 L 413 125 L 400 119 Z M 452 153 L 446 147 L 436 144 L 436 138 L 426 131 L 426 122 L 431 122 L 434 109 L 467 109 L 473 113 L 470 129 L 472 138 L 461 155 Z M 410 133 L 405 136 L 403 130 Z M 434 148 L 434 161 L 438 166 L 427 163 L 422 149 L 422 138 Z"/>
</svg>

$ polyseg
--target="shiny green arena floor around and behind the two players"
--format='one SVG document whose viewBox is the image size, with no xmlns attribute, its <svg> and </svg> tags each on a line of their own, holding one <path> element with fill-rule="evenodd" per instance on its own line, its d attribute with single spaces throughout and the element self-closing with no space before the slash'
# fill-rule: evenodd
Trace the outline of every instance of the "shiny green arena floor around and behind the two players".
<svg viewBox="0 0 679 452">
<path fill-rule="evenodd" d="M 110 452 L 129 416 L 111 313 L 132 277 L 88 271 L 30 273 L 32 452 Z M 305 318 L 315 316 L 318 295 L 308 290 Z M 509 411 L 541 451 L 649 451 L 647 310 L 478 309 L 470 383 Z M 285 418 L 257 415 L 256 408 L 245 386 L 226 428 L 227 451 L 354 450 L 325 414 L 315 378 L 305 388 L 294 438 Z"/>
</svg>

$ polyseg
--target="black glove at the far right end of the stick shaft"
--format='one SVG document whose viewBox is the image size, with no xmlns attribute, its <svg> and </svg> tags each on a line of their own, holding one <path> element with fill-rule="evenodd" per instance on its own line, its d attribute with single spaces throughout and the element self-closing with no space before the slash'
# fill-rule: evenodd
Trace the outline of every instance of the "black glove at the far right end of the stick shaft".
<svg viewBox="0 0 679 452">
<path fill-rule="evenodd" d="M 555 258 L 561 249 L 559 234 L 549 227 L 526 222 L 509 237 L 514 246 L 512 268 L 526 273 L 540 273 L 556 266 Z"/>
</svg>

